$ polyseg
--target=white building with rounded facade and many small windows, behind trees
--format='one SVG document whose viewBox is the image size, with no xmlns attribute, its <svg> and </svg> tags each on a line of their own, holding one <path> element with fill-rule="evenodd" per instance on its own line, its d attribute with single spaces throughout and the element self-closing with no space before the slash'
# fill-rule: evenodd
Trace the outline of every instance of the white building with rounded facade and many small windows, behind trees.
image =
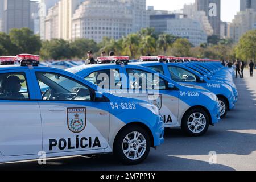
<svg viewBox="0 0 256 182">
<path fill-rule="evenodd" d="M 145 7 L 146 9 L 146 7 Z M 133 12 L 118 0 L 87 0 L 73 15 L 72 39 L 122 38 L 133 32 Z"/>
</svg>

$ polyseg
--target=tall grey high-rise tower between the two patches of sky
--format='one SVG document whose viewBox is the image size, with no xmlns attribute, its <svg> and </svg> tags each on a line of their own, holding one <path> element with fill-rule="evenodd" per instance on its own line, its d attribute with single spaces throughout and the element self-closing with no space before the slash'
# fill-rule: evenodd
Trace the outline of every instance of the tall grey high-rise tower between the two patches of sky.
<svg viewBox="0 0 256 182">
<path fill-rule="evenodd" d="M 197 11 L 204 11 L 212 25 L 214 35 L 220 35 L 221 2 L 220 0 L 196 0 Z"/>
</svg>

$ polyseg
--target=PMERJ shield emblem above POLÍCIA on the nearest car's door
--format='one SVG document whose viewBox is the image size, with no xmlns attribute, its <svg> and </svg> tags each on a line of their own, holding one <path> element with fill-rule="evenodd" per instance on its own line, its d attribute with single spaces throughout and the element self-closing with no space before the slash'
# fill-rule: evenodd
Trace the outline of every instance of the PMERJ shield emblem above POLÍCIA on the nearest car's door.
<svg viewBox="0 0 256 182">
<path fill-rule="evenodd" d="M 68 129 L 73 133 L 80 133 L 86 126 L 85 108 L 68 108 Z"/>
</svg>

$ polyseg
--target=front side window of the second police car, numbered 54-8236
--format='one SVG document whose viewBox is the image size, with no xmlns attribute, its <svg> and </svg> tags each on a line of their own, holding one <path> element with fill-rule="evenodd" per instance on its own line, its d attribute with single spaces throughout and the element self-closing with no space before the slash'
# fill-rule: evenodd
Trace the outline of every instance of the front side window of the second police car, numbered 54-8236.
<svg viewBox="0 0 256 182">
<path fill-rule="evenodd" d="M 140 69 L 126 69 L 129 78 L 130 89 L 154 89 L 165 90 L 166 81 L 153 74 Z"/>
</svg>

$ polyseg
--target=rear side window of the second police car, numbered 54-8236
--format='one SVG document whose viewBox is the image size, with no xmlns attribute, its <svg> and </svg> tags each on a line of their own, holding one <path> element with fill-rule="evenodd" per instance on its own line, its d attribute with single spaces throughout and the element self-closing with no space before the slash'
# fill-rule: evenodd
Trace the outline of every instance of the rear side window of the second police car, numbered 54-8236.
<svg viewBox="0 0 256 182">
<path fill-rule="evenodd" d="M 122 88 L 119 69 L 105 69 L 92 72 L 85 77 L 85 80 L 100 86 L 102 89 Z"/>
</svg>

